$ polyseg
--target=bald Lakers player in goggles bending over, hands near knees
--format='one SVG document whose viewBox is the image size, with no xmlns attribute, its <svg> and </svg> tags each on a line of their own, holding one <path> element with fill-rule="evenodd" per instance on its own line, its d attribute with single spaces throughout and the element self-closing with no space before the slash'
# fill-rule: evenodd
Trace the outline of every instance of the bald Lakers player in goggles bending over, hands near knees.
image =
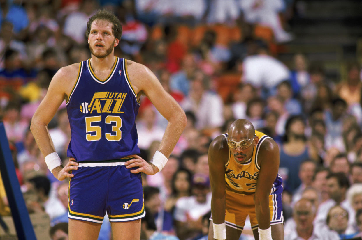
<svg viewBox="0 0 362 240">
<path fill-rule="evenodd" d="M 277 143 L 246 119 L 210 144 L 209 240 L 239 239 L 249 215 L 255 239 L 283 239 L 282 178 Z"/>
</svg>

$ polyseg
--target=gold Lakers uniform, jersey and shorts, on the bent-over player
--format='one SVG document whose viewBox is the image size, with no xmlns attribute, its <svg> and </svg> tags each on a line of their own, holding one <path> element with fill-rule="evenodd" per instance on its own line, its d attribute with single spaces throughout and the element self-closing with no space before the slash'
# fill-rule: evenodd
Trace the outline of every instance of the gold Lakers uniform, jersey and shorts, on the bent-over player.
<svg viewBox="0 0 362 240">
<path fill-rule="evenodd" d="M 225 164 L 226 180 L 226 215 L 227 226 L 243 230 L 245 219 L 249 215 L 252 230 L 258 228 L 256 218 L 254 193 L 258 181 L 260 166 L 258 165 L 258 151 L 267 138 L 264 133 L 255 131 L 259 142 L 254 146 L 253 156 L 245 163 L 237 163 L 229 150 L 229 158 Z M 223 134 L 227 138 L 227 134 Z M 278 174 L 274 180 L 269 195 L 270 225 L 284 222 L 282 208 L 282 178 Z M 210 218 L 212 219 L 212 218 Z"/>
</svg>

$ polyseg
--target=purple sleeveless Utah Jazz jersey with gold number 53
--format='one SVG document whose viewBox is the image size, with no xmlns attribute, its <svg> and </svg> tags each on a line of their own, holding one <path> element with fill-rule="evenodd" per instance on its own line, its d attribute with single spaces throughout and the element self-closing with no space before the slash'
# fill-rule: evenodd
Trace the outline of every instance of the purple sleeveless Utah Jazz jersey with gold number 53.
<svg viewBox="0 0 362 240">
<path fill-rule="evenodd" d="M 89 60 L 80 63 L 67 102 L 71 124 L 68 157 L 102 161 L 140 152 L 135 126 L 139 102 L 126 67 L 127 60 L 117 57 L 108 78 L 100 80 Z"/>
</svg>

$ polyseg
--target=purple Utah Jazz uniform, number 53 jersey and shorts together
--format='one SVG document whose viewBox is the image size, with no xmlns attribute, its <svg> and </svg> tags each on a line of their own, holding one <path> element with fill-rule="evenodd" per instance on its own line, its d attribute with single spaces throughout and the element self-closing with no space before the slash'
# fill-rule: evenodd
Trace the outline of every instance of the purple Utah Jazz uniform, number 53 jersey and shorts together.
<svg viewBox="0 0 362 240">
<path fill-rule="evenodd" d="M 71 126 L 67 156 L 79 163 L 70 179 L 69 218 L 102 223 L 106 213 L 111 222 L 144 216 L 141 174 L 124 166 L 128 156 L 140 153 L 138 108 L 126 59 L 115 57 L 105 80 L 94 74 L 90 60 L 79 64 L 67 101 Z"/>
</svg>

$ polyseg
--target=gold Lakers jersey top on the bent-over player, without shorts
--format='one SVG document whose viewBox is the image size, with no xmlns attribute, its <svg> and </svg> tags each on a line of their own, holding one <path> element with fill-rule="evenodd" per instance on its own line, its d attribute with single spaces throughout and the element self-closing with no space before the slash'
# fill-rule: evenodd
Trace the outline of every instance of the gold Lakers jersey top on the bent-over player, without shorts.
<svg viewBox="0 0 362 240">
<path fill-rule="evenodd" d="M 254 146 L 253 156 L 247 162 L 237 163 L 229 150 L 229 159 L 225 164 L 225 180 L 231 189 L 238 192 L 254 193 L 256 189 L 260 171 L 260 166 L 257 162 L 258 150 L 261 143 L 270 137 L 258 131 L 255 131 L 255 134 L 259 138 L 259 142 Z M 223 136 L 227 138 L 227 133 L 223 134 Z"/>
</svg>

